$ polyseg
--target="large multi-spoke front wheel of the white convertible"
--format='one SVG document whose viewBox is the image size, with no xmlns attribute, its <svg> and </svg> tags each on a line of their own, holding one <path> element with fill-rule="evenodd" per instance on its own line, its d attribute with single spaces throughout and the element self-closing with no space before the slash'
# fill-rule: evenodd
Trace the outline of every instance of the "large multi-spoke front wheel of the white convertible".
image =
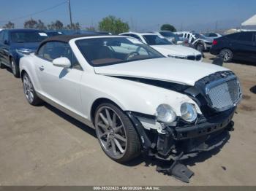
<svg viewBox="0 0 256 191">
<path fill-rule="evenodd" d="M 100 146 L 111 159 L 126 163 L 140 155 L 140 139 L 135 127 L 114 104 L 105 103 L 97 107 L 94 126 Z"/>
</svg>

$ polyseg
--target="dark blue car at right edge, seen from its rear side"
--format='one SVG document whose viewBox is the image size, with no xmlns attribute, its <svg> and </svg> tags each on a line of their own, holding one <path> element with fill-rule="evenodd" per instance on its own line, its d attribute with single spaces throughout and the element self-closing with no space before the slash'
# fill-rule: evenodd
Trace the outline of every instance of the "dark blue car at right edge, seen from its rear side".
<svg viewBox="0 0 256 191">
<path fill-rule="evenodd" d="M 232 60 L 256 61 L 256 31 L 240 32 L 214 39 L 211 54 Z"/>
</svg>

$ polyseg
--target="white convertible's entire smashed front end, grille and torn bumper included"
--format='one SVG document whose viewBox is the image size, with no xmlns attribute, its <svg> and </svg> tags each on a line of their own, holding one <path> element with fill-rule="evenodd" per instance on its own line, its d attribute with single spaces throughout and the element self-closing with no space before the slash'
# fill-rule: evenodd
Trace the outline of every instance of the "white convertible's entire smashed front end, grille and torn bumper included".
<svg viewBox="0 0 256 191">
<path fill-rule="evenodd" d="M 232 71 L 223 71 L 200 79 L 194 87 L 184 88 L 182 93 L 200 107 L 202 114 L 197 114 L 195 120 L 177 116 L 175 121 L 167 123 L 156 116 L 136 112 L 127 112 L 127 115 L 138 130 L 143 151 L 173 162 L 169 168 L 157 168 L 157 171 L 189 182 L 193 173 L 181 164 L 181 160 L 221 147 L 230 138 L 233 114 L 241 100 L 241 87 Z"/>
</svg>

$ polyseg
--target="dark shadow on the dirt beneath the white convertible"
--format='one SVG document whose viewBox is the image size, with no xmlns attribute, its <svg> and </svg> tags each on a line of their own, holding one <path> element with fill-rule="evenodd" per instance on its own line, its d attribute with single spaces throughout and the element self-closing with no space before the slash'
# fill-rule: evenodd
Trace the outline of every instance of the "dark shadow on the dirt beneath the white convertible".
<svg viewBox="0 0 256 191">
<path fill-rule="evenodd" d="M 94 136 L 95 139 L 97 139 L 97 135 L 95 133 L 95 130 L 93 128 L 90 128 L 89 126 L 83 124 L 82 122 L 79 122 L 78 120 L 75 120 L 75 118 L 70 117 L 68 114 L 65 114 L 64 112 L 61 112 L 59 109 L 56 109 L 56 107 L 51 106 L 50 104 L 43 104 L 45 108 L 49 109 L 54 114 L 57 114 L 59 117 L 63 118 L 64 120 L 67 120 L 67 122 L 70 122 L 72 125 L 75 125 L 77 128 L 80 128 L 85 133 L 89 133 L 89 135 Z M 185 160 L 182 160 L 182 163 L 184 165 L 193 166 L 196 163 L 203 163 L 205 160 L 208 160 L 213 155 L 217 155 L 222 149 L 222 147 L 225 145 L 225 143 L 230 139 L 230 136 L 227 137 L 227 140 L 224 141 L 219 147 L 212 149 L 208 152 L 200 152 L 199 155 L 196 157 L 189 157 Z M 145 163 L 145 166 L 170 166 L 170 160 L 160 160 L 155 157 L 149 157 L 146 154 L 141 154 L 138 157 L 136 157 L 134 160 L 131 160 L 127 163 L 122 163 L 122 165 L 127 166 L 136 166 L 140 165 L 142 163 Z"/>
</svg>

